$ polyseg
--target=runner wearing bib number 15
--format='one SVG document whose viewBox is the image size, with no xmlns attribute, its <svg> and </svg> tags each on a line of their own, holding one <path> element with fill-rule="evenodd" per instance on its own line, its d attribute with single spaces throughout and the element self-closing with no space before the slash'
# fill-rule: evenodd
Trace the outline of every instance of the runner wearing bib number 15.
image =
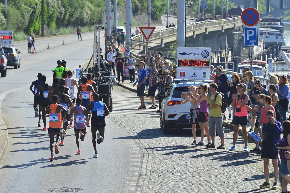
<svg viewBox="0 0 290 193">
<path fill-rule="evenodd" d="M 87 109 L 83 106 L 81 106 L 82 99 L 77 98 L 76 99 L 76 106 L 71 108 L 71 111 L 69 112 L 68 119 L 72 121 L 72 114 L 74 114 L 74 134 L 76 136 L 76 143 L 77 143 L 77 155 L 81 154 L 81 150 L 79 148 L 79 135 L 81 136 L 81 141 L 85 140 L 85 131 L 86 131 L 86 120 L 85 120 L 85 114 Z"/>
</svg>

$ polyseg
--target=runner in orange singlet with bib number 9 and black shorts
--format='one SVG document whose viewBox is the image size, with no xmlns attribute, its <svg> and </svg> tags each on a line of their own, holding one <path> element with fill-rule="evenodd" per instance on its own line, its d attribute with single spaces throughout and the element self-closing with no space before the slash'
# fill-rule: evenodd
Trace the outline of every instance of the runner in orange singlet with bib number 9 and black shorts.
<svg viewBox="0 0 290 193">
<path fill-rule="evenodd" d="M 45 116 L 43 117 L 49 117 L 49 128 L 48 128 L 48 134 L 50 139 L 50 161 L 54 161 L 53 156 L 53 142 L 54 142 L 54 136 L 56 134 L 56 143 L 55 143 L 55 153 L 58 154 L 58 142 L 60 139 L 60 132 L 62 128 L 62 120 L 61 120 L 61 113 L 60 111 L 64 112 L 64 116 L 66 116 L 66 109 L 62 106 L 57 104 L 58 103 L 58 96 L 54 95 L 52 96 L 52 104 L 48 105 L 45 111 Z"/>
</svg>

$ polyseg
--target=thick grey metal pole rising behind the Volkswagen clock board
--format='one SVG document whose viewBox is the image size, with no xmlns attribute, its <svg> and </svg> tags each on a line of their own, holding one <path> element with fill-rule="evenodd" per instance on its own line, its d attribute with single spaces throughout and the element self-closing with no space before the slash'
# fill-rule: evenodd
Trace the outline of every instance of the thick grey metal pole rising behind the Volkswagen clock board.
<svg viewBox="0 0 290 193">
<path fill-rule="evenodd" d="M 185 46 L 185 0 L 177 1 L 177 34 L 176 45 L 178 47 Z"/>
</svg>

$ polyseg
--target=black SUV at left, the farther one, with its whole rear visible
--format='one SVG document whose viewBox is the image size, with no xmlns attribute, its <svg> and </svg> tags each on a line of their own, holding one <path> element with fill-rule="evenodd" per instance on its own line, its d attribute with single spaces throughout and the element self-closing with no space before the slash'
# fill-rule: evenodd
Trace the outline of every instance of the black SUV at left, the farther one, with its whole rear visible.
<svg viewBox="0 0 290 193">
<path fill-rule="evenodd" d="M 2 46 L 7 58 L 7 66 L 14 66 L 14 69 L 20 68 L 20 51 L 14 45 Z"/>
</svg>

